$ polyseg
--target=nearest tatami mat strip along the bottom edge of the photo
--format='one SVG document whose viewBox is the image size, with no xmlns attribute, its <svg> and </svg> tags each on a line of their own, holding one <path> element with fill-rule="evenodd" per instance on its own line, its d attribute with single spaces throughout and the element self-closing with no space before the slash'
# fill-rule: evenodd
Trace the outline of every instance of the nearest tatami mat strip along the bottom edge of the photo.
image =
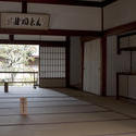
<svg viewBox="0 0 136 136">
<path fill-rule="evenodd" d="M 136 121 L 1 126 L 1 136 L 132 136 Z M 133 133 L 133 134 L 131 134 Z M 126 135 L 125 135 L 126 134 Z"/>
</svg>

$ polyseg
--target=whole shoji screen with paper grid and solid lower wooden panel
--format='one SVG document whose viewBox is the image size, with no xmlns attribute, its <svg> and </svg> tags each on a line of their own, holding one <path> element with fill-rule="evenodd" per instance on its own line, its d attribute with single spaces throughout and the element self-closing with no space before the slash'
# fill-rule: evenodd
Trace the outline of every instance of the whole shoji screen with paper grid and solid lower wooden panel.
<svg viewBox="0 0 136 136">
<path fill-rule="evenodd" d="M 65 44 L 40 46 L 40 87 L 65 86 Z"/>
</svg>

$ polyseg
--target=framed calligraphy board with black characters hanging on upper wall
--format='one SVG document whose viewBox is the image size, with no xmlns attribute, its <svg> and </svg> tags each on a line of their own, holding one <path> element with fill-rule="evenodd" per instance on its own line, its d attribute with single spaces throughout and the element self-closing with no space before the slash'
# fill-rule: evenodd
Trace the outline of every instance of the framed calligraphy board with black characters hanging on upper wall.
<svg viewBox="0 0 136 136">
<path fill-rule="evenodd" d="M 49 28 L 48 14 L 1 13 L 1 28 L 40 29 Z"/>
</svg>

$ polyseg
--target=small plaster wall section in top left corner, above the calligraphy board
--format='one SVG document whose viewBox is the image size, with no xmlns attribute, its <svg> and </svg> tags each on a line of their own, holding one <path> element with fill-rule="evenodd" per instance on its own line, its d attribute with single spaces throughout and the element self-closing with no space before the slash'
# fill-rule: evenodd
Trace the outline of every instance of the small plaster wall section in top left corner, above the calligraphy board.
<svg viewBox="0 0 136 136">
<path fill-rule="evenodd" d="M 22 3 L 0 1 L 0 12 L 22 12 Z"/>
</svg>

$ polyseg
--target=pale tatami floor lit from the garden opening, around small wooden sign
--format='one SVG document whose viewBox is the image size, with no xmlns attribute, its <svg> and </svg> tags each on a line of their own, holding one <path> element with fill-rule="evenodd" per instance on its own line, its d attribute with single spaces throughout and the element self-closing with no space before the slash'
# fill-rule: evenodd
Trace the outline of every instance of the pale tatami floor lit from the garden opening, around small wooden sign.
<svg viewBox="0 0 136 136">
<path fill-rule="evenodd" d="M 4 94 L 1 87 L 0 136 L 136 136 L 135 116 L 63 90 L 10 87 Z M 20 114 L 20 97 L 27 97 L 27 116 Z"/>
</svg>

